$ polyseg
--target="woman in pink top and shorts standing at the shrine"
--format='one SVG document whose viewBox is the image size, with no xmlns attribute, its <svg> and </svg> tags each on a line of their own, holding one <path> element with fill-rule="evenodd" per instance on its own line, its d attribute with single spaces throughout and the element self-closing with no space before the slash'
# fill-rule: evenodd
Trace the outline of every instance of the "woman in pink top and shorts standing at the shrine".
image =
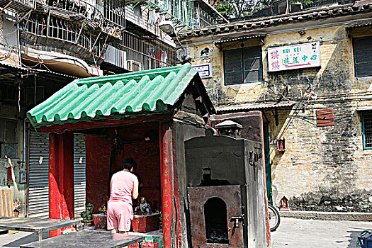
<svg viewBox="0 0 372 248">
<path fill-rule="evenodd" d="M 112 233 L 129 232 L 133 220 L 132 198 L 138 197 L 138 179 L 133 170 L 137 167 L 134 159 L 125 159 L 123 171 L 111 178 L 111 194 L 107 203 L 107 229 Z"/>
</svg>

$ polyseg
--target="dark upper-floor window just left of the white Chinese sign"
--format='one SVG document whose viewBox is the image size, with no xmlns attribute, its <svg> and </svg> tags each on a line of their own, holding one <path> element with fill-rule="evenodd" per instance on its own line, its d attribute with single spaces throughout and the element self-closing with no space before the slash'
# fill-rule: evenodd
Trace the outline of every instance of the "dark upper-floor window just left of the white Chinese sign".
<svg viewBox="0 0 372 248">
<path fill-rule="evenodd" d="M 261 46 L 223 52 L 225 85 L 262 81 Z"/>
</svg>

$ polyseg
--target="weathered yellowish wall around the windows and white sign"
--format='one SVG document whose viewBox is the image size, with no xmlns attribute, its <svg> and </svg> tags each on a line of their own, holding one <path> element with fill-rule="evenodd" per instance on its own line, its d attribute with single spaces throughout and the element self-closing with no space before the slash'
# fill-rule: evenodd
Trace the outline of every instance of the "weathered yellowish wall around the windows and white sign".
<svg viewBox="0 0 372 248">
<path fill-rule="evenodd" d="M 243 34 L 242 34 L 243 35 Z M 213 43 L 190 47 L 193 64 L 213 63 L 213 79 L 203 79 L 216 106 L 293 101 L 293 108 L 264 111 L 269 122 L 274 203 L 283 196 L 298 210 L 372 210 L 372 151 L 363 150 L 358 106 L 372 103 L 372 77 L 354 77 L 352 37 L 372 35 L 368 28 L 345 26 L 267 35 L 261 40 L 227 43 L 222 50 L 262 44 L 264 81 L 225 86 L 222 51 Z M 321 67 L 268 73 L 267 48 L 320 42 Z M 201 50 L 210 49 L 201 56 Z M 312 97 L 307 94 L 312 93 Z M 315 111 L 333 108 L 334 126 L 317 127 Z M 286 151 L 276 139 L 286 139 Z"/>
</svg>

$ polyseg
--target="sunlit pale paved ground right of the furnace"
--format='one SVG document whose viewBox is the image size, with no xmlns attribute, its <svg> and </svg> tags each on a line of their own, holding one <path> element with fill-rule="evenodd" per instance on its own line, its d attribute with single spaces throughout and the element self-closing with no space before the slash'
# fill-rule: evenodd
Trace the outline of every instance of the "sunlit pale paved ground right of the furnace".
<svg viewBox="0 0 372 248">
<path fill-rule="evenodd" d="M 271 233 L 272 248 L 355 248 L 358 235 L 372 222 L 281 218 Z"/>
</svg>

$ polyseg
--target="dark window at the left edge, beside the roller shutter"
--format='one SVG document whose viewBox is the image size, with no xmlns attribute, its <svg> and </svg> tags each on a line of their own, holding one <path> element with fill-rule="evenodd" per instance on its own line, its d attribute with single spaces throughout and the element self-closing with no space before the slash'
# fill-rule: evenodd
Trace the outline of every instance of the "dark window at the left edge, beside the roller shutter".
<svg viewBox="0 0 372 248">
<path fill-rule="evenodd" d="M 17 155 L 17 121 L 0 118 L 0 155 L 4 159 L 16 158 Z"/>
</svg>

